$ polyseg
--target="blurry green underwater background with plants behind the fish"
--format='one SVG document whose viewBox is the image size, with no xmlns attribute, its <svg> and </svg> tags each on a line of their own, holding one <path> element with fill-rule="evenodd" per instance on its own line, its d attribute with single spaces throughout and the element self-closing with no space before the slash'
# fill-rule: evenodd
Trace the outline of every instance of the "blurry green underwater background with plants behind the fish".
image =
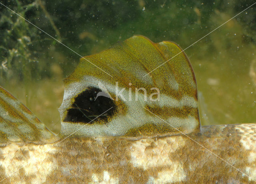
<svg viewBox="0 0 256 184">
<path fill-rule="evenodd" d="M 82 56 L 144 35 L 183 49 L 253 0 L 2 0 Z M 0 4 L 0 86 L 60 130 L 64 83 L 80 56 Z M 202 125 L 256 122 L 256 5 L 188 49 Z M 96 69 L 92 65 L 92 70 Z"/>
</svg>

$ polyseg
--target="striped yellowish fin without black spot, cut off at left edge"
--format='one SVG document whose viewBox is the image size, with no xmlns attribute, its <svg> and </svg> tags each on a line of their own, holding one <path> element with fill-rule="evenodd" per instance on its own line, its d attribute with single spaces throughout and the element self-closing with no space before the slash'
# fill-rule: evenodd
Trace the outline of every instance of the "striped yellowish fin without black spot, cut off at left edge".
<svg viewBox="0 0 256 184">
<path fill-rule="evenodd" d="M 0 87 L 0 144 L 46 143 L 53 140 L 54 133 L 12 96 Z"/>
</svg>

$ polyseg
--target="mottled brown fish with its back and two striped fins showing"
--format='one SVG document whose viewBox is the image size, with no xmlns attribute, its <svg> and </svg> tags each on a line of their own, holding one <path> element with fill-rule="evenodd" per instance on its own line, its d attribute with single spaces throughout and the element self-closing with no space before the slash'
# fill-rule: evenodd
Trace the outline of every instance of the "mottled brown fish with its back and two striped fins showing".
<svg viewBox="0 0 256 184">
<path fill-rule="evenodd" d="M 176 43 L 135 35 L 80 59 L 64 84 L 58 134 L 0 87 L 0 182 L 256 183 L 256 123 L 201 126 Z"/>
</svg>

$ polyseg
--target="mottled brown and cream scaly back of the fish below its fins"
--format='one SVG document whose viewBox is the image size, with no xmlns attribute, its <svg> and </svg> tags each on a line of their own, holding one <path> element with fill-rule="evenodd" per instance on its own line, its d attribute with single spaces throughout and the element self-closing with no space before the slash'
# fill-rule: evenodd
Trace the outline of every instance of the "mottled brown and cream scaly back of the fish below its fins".
<svg viewBox="0 0 256 184">
<path fill-rule="evenodd" d="M 3 183 L 255 183 L 256 124 L 212 125 L 185 135 L 76 138 L 0 149 Z M 62 139 L 60 139 L 62 140 Z M 56 145 L 56 143 L 58 143 Z M 250 178 L 248 178 L 248 176 Z"/>
</svg>

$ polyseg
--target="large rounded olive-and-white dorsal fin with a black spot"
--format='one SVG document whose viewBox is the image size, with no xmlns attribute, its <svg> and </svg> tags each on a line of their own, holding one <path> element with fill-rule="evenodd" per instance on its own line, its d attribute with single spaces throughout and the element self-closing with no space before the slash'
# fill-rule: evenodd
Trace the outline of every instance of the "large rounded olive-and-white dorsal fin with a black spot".
<svg viewBox="0 0 256 184">
<path fill-rule="evenodd" d="M 170 41 L 153 43 L 146 37 L 133 36 L 84 57 L 113 77 L 81 59 L 64 80 L 64 99 L 59 108 L 61 135 L 76 131 L 77 136 L 152 137 L 177 134 L 176 129 L 183 133 L 199 131 L 196 80 L 190 61 L 181 51 Z M 99 83 L 112 99 L 97 95 L 105 91 Z"/>
</svg>

